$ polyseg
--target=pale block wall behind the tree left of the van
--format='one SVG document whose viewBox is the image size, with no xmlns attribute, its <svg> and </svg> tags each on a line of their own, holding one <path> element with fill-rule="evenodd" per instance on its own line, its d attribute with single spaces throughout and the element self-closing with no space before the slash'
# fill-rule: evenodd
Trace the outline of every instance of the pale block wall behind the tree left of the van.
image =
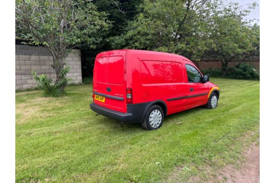
<svg viewBox="0 0 275 183">
<path fill-rule="evenodd" d="M 82 83 L 80 50 L 73 49 L 65 58 L 70 71 L 67 74 L 73 81 L 70 83 Z M 31 89 L 37 86 L 36 80 L 31 75 L 34 70 L 37 74 L 47 74 L 53 81 L 56 74 L 50 67 L 53 64 L 50 52 L 44 47 L 15 45 L 15 89 Z"/>
</svg>

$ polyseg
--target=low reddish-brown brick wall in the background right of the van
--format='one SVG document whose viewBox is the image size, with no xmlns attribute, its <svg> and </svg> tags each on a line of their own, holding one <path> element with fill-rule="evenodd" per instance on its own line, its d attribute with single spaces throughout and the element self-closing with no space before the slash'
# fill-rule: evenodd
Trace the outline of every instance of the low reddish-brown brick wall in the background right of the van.
<svg viewBox="0 0 275 183">
<path fill-rule="evenodd" d="M 209 60 L 209 61 L 199 61 L 199 62 L 194 62 L 200 69 L 208 69 L 208 68 L 215 68 L 215 69 L 222 69 L 222 62 L 218 62 L 216 60 Z M 240 63 L 239 61 L 236 62 L 229 62 L 228 67 L 233 67 Z M 243 63 L 248 63 L 252 66 L 257 71 L 260 71 L 260 60 L 251 60 L 251 61 L 243 61 Z"/>
</svg>

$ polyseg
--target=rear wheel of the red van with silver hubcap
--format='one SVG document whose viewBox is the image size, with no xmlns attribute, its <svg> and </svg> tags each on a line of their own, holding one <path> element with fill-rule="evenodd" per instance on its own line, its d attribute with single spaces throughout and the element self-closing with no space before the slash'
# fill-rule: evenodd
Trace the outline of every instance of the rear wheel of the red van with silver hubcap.
<svg viewBox="0 0 275 183">
<path fill-rule="evenodd" d="M 163 122 L 163 110 L 158 105 L 152 105 L 146 111 L 145 119 L 142 122 L 142 127 L 145 130 L 156 130 L 161 127 Z"/>
</svg>

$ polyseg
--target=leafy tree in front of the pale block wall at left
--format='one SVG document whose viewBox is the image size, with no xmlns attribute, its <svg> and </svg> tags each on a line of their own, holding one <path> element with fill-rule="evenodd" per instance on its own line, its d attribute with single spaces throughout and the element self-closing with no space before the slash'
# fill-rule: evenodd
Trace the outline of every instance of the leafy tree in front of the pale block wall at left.
<svg viewBox="0 0 275 183">
<path fill-rule="evenodd" d="M 15 12 L 17 36 L 29 44 L 44 45 L 52 54 L 54 86 L 61 92 L 67 84 L 62 82 L 66 55 L 83 44 L 94 48 L 101 41 L 96 34 L 109 24 L 106 13 L 98 12 L 90 1 L 16 0 Z"/>
</svg>

